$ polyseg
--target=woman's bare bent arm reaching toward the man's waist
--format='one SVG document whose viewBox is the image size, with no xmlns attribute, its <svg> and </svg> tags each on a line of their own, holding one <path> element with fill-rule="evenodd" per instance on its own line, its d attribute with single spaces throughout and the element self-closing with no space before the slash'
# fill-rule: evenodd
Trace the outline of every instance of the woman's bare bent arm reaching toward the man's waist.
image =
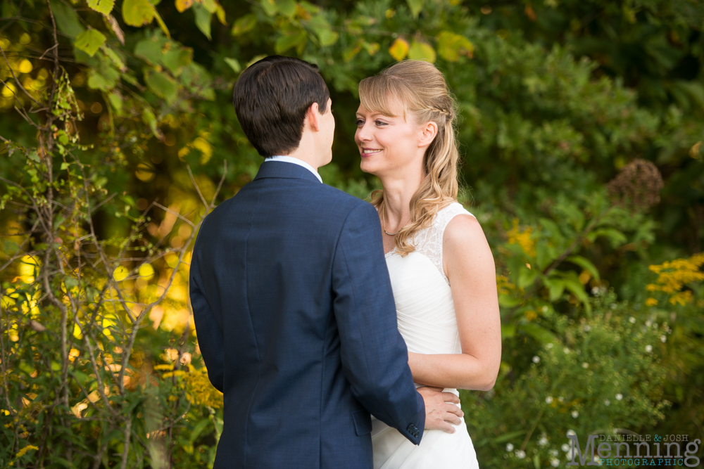
<svg viewBox="0 0 704 469">
<path fill-rule="evenodd" d="M 496 267 L 477 219 L 458 215 L 443 236 L 443 259 L 450 280 L 461 354 L 408 354 L 416 383 L 487 391 L 501 364 L 501 318 Z"/>
</svg>

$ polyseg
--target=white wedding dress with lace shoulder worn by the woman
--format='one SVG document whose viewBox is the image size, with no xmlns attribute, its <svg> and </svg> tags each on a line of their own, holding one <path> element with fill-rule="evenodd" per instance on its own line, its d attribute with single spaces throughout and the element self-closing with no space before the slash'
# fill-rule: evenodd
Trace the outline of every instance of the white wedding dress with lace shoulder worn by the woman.
<svg viewBox="0 0 704 469">
<path fill-rule="evenodd" d="M 431 226 L 416 233 L 415 251 L 406 257 L 398 255 L 395 249 L 386 253 L 398 330 L 409 352 L 462 353 L 450 283 L 442 264 L 445 227 L 459 214 L 472 215 L 460 203 L 444 207 Z M 455 389 L 445 391 L 459 395 Z M 416 446 L 398 430 L 372 416 L 372 446 L 375 469 L 479 468 L 464 418 L 460 425 L 455 425 L 452 434 L 425 430 L 420 445 Z"/>
</svg>

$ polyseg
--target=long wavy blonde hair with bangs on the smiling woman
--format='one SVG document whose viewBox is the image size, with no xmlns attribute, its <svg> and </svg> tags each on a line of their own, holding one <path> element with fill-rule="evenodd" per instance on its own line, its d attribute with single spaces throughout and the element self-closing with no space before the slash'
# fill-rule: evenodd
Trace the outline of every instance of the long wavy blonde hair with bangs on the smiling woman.
<svg viewBox="0 0 704 469">
<path fill-rule="evenodd" d="M 391 65 L 379 75 L 359 84 L 362 107 L 384 115 L 393 115 L 389 101 L 398 98 L 417 122 L 435 122 L 438 133 L 423 158 L 425 178 L 410 200 L 410 222 L 398 231 L 394 244 L 402 256 L 415 248 L 409 242 L 420 229 L 430 226 L 442 207 L 457 200 L 457 165 L 460 158 L 455 143 L 455 100 L 448 91 L 445 77 L 432 63 L 404 60 Z M 372 193 L 372 204 L 384 210 L 384 191 Z"/>
</svg>

